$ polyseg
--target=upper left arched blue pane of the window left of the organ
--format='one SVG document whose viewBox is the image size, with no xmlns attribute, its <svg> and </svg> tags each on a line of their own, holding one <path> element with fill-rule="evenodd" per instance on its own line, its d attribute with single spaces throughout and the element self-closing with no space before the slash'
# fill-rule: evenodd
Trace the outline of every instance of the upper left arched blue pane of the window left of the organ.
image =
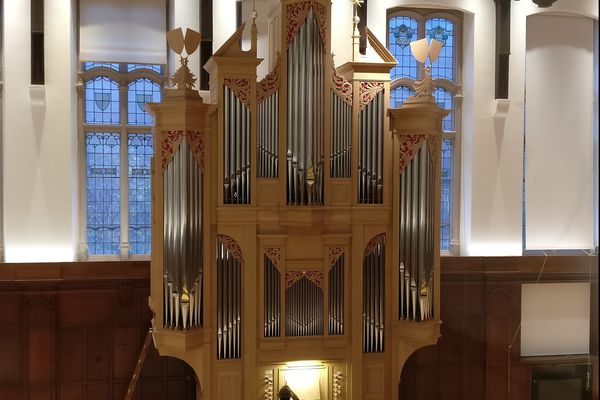
<svg viewBox="0 0 600 400">
<path fill-rule="evenodd" d="M 105 76 L 85 83 L 84 113 L 86 124 L 119 123 L 119 86 Z"/>
</svg>

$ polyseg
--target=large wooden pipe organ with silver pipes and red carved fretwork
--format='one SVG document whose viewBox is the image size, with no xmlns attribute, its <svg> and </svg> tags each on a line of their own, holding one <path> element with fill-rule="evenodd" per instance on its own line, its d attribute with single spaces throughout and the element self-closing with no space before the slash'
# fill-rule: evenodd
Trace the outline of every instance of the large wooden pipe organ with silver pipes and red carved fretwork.
<svg viewBox="0 0 600 400">
<path fill-rule="evenodd" d="M 334 66 L 330 2 L 281 1 L 261 81 L 256 27 L 205 65 L 210 104 L 167 89 L 152 164 L 153 339 L 203 399 L 396 399 L 439 321 L 441 121 L 388 110 L 394 58 Z"/>
</svg>

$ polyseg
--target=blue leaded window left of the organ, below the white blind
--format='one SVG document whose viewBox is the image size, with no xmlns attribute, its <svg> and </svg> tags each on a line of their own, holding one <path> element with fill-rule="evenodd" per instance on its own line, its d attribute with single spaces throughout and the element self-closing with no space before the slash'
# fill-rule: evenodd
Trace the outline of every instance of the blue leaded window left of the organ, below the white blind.
<svg viewBox="0 0 600 400">
<path fill-rule="evenodd" d="M 82 64 L 79 258 L 150 253 L 152 117 L 162 66 Z"/>
</svg>

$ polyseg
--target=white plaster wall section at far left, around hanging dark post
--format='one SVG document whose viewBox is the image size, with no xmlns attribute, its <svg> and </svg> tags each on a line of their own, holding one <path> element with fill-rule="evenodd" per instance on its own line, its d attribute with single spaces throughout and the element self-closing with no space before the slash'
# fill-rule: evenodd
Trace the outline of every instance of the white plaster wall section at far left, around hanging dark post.
<svg viewBox="0 0 600 400">
<path fill-rule="evenodd" d="M 71 261 L 77 240 L 75 20 L 46 2 L 46 85 L 30 89 L 30 2 L 4 2 L 6 261 Z M 38 90 L 39 89 L 39 90 Z"/>
</svg>

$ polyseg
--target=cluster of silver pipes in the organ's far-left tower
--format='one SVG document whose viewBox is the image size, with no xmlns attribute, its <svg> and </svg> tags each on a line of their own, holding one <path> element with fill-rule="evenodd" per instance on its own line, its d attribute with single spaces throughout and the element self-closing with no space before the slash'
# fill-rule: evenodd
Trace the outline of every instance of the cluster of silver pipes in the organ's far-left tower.
<svg viewBox="0 0 600 400">
<path fill-rule="evenodd" d="M 165 327 L 202 325 L 202 169 L 184 136 L 163 176 Z"/>
</svg>

